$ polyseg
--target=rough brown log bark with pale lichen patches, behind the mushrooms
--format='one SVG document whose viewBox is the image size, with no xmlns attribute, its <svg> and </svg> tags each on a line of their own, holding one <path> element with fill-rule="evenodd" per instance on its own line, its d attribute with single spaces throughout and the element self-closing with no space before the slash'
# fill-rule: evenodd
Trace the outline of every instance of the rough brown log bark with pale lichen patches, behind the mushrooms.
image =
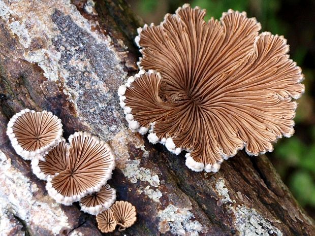
<svg viewBox="0 0 315 236">
<path fill-rule="evenodd" d="M 7 123 L 24 108 L 59 116 L 65 138 L 87 131 L 113 148 L 109 184 L 138 220 L 107 235 L 315 235 L 265 155 L 239 151 L 218 173 L 196 173 L 128 130 L 117 89 L 137 70 L 140 24 L 124 1 L 0 0 L 0 21 L 0 235 L 103 235 L 14 152 Z"/>
</svg>

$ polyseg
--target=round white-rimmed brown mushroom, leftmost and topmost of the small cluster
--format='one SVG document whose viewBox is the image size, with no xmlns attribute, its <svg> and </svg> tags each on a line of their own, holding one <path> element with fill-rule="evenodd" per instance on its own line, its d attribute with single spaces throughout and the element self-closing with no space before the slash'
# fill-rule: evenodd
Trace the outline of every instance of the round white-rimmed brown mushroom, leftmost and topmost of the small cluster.
<svg viewBox="0 0 315 236">
<path fill-rule="evenodd" d="M 41 158 L 60 141 L 62 124 L 51 112 L 25 109 L 10 119 L 7 135 L 14 150 L 23 159 Z"/>
</svg>

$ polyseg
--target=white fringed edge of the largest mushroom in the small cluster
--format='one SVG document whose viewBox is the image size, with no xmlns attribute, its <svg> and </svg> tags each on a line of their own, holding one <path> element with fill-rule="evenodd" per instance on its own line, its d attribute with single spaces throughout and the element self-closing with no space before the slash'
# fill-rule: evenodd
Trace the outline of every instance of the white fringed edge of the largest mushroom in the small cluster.
<svg viewBox="0 0 315 236">
<path fill-rule="evenodd" d="M 85 191 L 82 191 L 79 194 L 73 195 L 73 196 L 64 196 L 64 195 L 58 193 L 58 191 L 52 186 L 52 183 L 51 183 L 53 177 L 47 177 L 46 190 L 47 190 L 48 194 L 53 199 L 55 199 L 55 201 L 57 203 L 64 204 L 66 206 L 72 205 L 75 201 L 79 201 L 82 197 L 86 196 L 89 193 L 98 192 L 101 189 L 101 187 L 107 183 L 107 180 L 109 180 L 111 178 L 113 170 L 115 168 L 115 155 L 113 154 L 109 145 L 103 141 L 100 141 L 97 137 L 92 136 L 90 133 L 80 131 L 80 132 L 75 132 L 74 134 L 71 134 L 71 136 L 68 139 L 70 146 L 71 146 L 72 139 L 74 139 L 78 136 L 81 136 L 81 135 L 83 135 L 84 137 L 91 137 L 94 140 L 96 140 L 97 143 L 101 143 L 102 145 L 104 145 L 109 152 L 110 159 L 108 161 L 111 161 L 112 164 L 108 167 L 108 173 L 105 174 L 102 181 L 100 181 L 97 185 L 95 185 L 91 188 L 88 188 Z M 57 176 L 57 175 L 58 174 L 56 174 L 55 176 Z"/>
</svg>

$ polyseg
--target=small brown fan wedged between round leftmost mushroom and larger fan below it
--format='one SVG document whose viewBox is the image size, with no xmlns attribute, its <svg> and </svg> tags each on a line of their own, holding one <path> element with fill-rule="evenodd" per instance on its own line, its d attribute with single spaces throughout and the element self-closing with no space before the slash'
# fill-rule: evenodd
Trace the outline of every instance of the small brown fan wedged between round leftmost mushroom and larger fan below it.
<svg viewBox="0 0 315 236">
<path fill-rule="evenodd" d="M 33 158 L 31 168 L 33 173 L 41 180 L 48 176 L 65 171 L 69 166 L 69 145 L 64 138 L 55 147 L 44 155 L 44 160 Z"/>
</svg>

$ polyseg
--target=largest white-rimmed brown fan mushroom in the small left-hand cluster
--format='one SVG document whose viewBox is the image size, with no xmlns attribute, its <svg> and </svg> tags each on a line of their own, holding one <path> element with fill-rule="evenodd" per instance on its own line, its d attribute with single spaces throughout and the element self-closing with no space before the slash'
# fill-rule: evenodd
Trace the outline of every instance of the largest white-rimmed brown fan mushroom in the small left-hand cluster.
<svg viewBox="0 0 315 236">
<path fill-rule="evenodd" d="M 86 132 L 69 137 L 66 170 L 47 178 L 46 189 L 57 203 L 71 205 L 85 195 L 99 191 L 112 175 L 115 158 L 110 147 Z M 68 156 L 68 154 L 67 154 Z"/>
</svg>

